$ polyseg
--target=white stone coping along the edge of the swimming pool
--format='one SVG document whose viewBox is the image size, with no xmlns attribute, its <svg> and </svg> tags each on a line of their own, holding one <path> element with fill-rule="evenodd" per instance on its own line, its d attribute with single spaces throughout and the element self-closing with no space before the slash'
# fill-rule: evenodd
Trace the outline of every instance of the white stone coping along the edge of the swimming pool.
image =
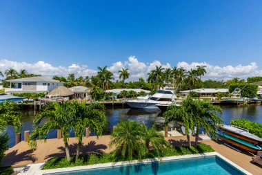
<svg viewBox="0 0 262 175">
<path fill-rule="evenodd" d="M 170 157 L 164 157 L 162 158 L 162 161 L 166 160 L 178 160 L 178 159 L 185 159 L 185 158 L 200 158 L 200 157 L 205 157 L 205 156 L 219 156 L 219 158 L 223 159 L 225 162 L 229 163 L 236 169 L 239 169 L 241 172 L 247 175 L 252 175 L 250 172 L 247 170 L 243 169 L 239 165 L 236 165 L 236 163 L 233 163 L 231 160 L 228 158 L 225 158 L 221 154 L 217 152 L 210 152 L 210 153 L 203 153 L 203 154 L 188 154 L 188 155 L 183 155 L 183 156 L 170 156 Z M 105 168 L 105 167 L 115 167 L 115 166 L 120 166 L 120 165 L 130 165 L 130 164 L 136 164 L 136 163 L 151 163 L 153 161 L 159 161 L 157 158 L 148 158 L 144 160 L 132 160 L 132 161 L 125 161 L 125 162 L 117 162 L 117 163 L 101 163 L 101 164 L 95 164 L 95 165 L 85 165 L 85 166 L 77 166 L 77 167 L 64 167 L 64 168 L 57 168 L 57 169 L 44 169 L 41 170 L 41 167 L 45 165 L 45 163 L 38 163 L 38 164 L 31 164 L 28 165 L 30 167 L 28 169 L 29 174 L 34 174 L 34 175 L 44 175 L 44 174 L 55 174 L 55 173 L 61 173 L 61 172 L 74 172 L 74 171 L 79 171 L 79 170 L 88 170 L 88 169 L 96 169 L 96 168 Z M 20 173 L 19 173 L 20 174 Z M 22 173 L 23 174 L 23 173 Z"/>
</svg>

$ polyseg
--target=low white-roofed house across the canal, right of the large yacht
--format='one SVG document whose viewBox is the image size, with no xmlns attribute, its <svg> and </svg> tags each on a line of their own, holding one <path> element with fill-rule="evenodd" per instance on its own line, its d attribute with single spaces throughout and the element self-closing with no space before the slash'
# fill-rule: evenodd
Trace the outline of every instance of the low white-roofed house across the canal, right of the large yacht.
<svg viewBox="0 0 262 175">
<path fill-rule="evenodd" d="M 199 94 L 200 97 L 215 97 L 216 93 L 228 93 L 228 89 L 192 89 L 187 91 L 181 91 L 181 94 L 188 95 L 190 91 L 194 91 Z"/>
</svg>

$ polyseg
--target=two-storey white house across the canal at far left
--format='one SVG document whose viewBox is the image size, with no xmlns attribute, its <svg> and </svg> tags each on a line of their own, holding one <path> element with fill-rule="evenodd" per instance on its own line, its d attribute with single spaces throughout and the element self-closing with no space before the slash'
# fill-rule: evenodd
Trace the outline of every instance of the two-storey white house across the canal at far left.
<svg viewBox="0 0 262 175">
<path fill-rule="evenodd" d="M 63 82 L 48 77 L 25 77 L 7 82 L 10 82 L 10 88 L 6 88 L 6 93 L 44 93 L 63 86 Z"/>
</svg>

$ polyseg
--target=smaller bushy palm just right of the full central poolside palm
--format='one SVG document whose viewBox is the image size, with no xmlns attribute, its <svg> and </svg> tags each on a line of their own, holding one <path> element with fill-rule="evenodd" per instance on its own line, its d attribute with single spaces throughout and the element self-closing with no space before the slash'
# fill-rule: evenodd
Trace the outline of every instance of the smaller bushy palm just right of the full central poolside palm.
<svg viewBox="0 0 262 175">
<path fill-rule="evenodd" d="M 161 157 L 163 149 L 170 146 L 168 141 L 165 140 L 163 133 L 157 131 L 154 125 L 149 129 L 145 124 L 143 125 L 143 133 L 145 146 L 148 147 L 148 149 L 150 149 L 151 146 L 154 151 L 154 156 Z"/>
</svg>

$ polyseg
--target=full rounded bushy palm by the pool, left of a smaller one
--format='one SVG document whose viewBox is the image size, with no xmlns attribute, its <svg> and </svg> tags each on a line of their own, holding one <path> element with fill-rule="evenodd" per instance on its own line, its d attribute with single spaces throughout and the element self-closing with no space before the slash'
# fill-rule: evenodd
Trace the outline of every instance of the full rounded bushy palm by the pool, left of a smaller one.
<svg viewBox="0 0 262 175">
<path fill-rule="evenodd" d="M 142 126 L 133 120 L 121 121 L 111 134 L 110 147 L 117 147 L 117 154 L 121 154 L 124 160 L 141 159 L 148 149 L 143 140 Z"/>
</svg>

